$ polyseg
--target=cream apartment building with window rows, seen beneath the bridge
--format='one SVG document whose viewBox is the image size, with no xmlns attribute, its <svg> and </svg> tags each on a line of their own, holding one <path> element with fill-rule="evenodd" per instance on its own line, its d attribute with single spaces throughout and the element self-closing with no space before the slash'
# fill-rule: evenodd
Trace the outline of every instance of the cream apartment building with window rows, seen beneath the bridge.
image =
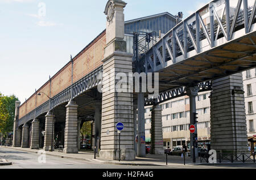
<svg viewBox="0 0 256 180">
<path fill-rule="evenodd" d="M 210 92 L 201 92 L 196 97 L 197 134 L 201 147 L 206 147 L 210 142 Z M 164 147 L 172 148 L 176 145 L 186 144 L 190 146 L 189 132 L 189 97 L 178 97 L 160 104 L 163 122 Z M 145 113 L 146 142 L 150 142 L 151 112 L 150 107 Z"/>
</svg>

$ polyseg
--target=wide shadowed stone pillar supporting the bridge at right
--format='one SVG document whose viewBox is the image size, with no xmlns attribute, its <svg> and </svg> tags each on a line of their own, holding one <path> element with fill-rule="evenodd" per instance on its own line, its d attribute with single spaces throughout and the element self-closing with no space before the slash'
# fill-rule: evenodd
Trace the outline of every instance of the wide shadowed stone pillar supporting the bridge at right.
<svg viewBox="0 0 256 180">
<path fill-rule="evenodd" d="M 247 128 L 242 74 L 212 81 L 210 148 L 222 153 L 247 151 Z"/>
</svg>

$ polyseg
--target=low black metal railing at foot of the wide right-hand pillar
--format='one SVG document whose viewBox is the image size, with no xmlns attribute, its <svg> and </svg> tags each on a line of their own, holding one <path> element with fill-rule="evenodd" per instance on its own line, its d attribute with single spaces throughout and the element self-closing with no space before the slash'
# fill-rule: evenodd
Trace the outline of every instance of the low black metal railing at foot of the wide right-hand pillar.
<svg viewBox="0 0 256 180">
<path fill-rule="evenodd" d="M 200 163 L 209 163 L 210 155 L 207 152 L 200 153 Z M 255 153 L 217 153 L 217 163 L 237 163 L 237 162 L 253 162 L 255 163 Z"/>
</svg>

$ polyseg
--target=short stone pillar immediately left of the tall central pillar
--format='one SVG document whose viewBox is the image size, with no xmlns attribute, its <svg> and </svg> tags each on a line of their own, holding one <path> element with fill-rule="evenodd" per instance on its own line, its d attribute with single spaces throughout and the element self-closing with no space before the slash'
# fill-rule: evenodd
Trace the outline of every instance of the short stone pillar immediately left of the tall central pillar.
<svg viewBox="0 0 256 180">
<path fill-rule="evenodd" d="M 66 106 L 64 153 L 78 153 L 77 148 L 77 107 L 75 101 L 69 101 Z"/>
</svg>

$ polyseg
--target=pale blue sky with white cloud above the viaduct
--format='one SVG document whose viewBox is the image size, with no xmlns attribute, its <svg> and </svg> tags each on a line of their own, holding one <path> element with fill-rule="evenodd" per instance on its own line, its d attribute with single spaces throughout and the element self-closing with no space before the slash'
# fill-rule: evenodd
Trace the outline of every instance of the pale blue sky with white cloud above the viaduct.
<svg viewBox="0 0 256 180">
<path fill-rule="evenodd" d="M 107 0 L 0 0 L 0 92 L 23 103 L 98 36 Z M 125 20 L 182 11 L 209 0 L 125 0 Z"/>
</svg>

